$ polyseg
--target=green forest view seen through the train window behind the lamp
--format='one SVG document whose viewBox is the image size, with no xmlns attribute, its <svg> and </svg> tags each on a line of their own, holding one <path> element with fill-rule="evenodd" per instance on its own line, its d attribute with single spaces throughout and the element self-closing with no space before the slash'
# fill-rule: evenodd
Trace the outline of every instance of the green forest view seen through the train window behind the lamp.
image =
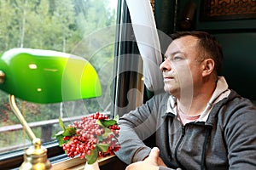
<svg viewBox="0 0 256 170">
<path fill-rule="evenodd" d="M 116 22 L 116 7 L 110 1 L 113 0 L 0 1 L 0 54 L 10 48 L 38 48 L 79 55 L 96 68 L 104 90 L 99 99 L 65 104 L 38 105 L 18 99 L 27 122 L 108 111 Z M 0 118 L 0 127 L 19 123 L 10 111 L 8 94 L 1 90 Z M 41 131 L 33 130 L 40 137 Z M 20 132 L 3 135 L 6 138 L 0 139 L 0 152 L 9 145 L 22 144 L 17 139 L 24 138 Z"/>
</svg>

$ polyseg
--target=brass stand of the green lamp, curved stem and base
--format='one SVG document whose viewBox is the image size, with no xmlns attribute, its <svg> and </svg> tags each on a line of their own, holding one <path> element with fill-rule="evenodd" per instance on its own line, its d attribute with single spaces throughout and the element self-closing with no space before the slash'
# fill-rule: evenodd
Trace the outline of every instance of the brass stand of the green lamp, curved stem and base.
<svg viewBox="0 0 256 170">
<path fill-rule="evenodd" d="M 15 102 L 15 96 L 9 95 L 9 104 L 12 111 L 20 120 L 22 126 L 26 129 L 26 133 L 32 140 L 32 146 L 30 146 L 24 154 L 24 161 L 20 166 L 20 170 L 46 170 L 50 169 L 51 164 L 47 159 L 47 150 L 41 145 L 41 139 L 38 139 L 32 132 L 31 127 L 28 126 L 24 116 L 22 116 L 19 108 Z"/>
</svg>

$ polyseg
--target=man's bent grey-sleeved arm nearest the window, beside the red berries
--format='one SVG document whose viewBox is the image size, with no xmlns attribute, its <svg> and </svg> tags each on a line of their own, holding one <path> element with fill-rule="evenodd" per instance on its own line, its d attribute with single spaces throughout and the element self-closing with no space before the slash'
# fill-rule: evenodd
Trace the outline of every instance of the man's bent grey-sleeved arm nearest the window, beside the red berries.
<svg viewBox="0 0 256 170">
<path fill-rule="evenodd" d="M 131 164 L 143 161 L 150 153 L 151 148 L 143 143 L 157 128 L 158 108 L 161 97 L 153 97 L 135 111 L 131 111 L 119 119 L 119 144 L 121 148 L 116 155 L 120 160 Z"/>
</svg>

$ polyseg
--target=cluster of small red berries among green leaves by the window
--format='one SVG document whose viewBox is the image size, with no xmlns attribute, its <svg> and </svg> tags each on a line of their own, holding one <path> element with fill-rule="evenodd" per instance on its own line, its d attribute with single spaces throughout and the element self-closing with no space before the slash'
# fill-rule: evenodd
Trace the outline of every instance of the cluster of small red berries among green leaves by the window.
<svg viewBox="0 0 256 170">
<path fill-rule="evenodd" d="M 69 140 L 67 144 L 63 144 L 63 150 L 66 150 L 67 156 L 74 157 L 80 156 L 83 159 L 86 155 L 91 154 L 96 149 L 96 144 L 108 144 L 108 150 L 102 152 L 97 150 L 98 157 L 113 155 L 114 151 L 118 151 L 120 145 L 117 137 L 119 136 L 119 126 L 117 124 L 109 127 L 102 127 L 96 123 L 97 120 L 108 120 L 108 116 L 99 112 L 91 116 L 84 116 L 80 122 L 73 122 L 71 127 L 75 127 L 76 135 L 72 137 L 65 136 L 64 140 Z M 112 133 L 108 135 L 102 135 L 105 133 L 105 129 L 109 128 Z"/>
</svg>

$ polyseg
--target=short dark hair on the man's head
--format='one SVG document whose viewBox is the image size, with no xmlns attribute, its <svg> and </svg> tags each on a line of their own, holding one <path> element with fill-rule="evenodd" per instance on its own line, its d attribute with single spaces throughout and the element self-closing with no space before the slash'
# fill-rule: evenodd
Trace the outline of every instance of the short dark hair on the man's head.
<svg viewBox="0 0 256 170">
<path fill-rule="evenodd" d="M 199 39 L 198 47 L 204 49 L 209 58 L 214 60 L 214 70 L 218 75 L 222 69 L 224 57 L 222 47 L 217 39 L 205 31 L 177 31 L 171 35 L 172 40 L 185 36 L 193 36 Z M 203 56 L 203 59 L 206 59 L 206 57 Z"/>
</svg>

